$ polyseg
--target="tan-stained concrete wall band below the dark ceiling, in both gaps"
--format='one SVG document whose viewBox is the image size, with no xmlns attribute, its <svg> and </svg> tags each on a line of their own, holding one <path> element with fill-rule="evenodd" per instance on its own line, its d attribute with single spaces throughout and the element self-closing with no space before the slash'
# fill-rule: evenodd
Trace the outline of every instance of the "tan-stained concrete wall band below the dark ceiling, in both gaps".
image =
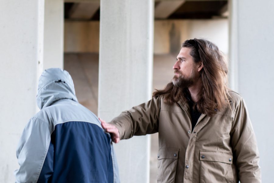
<svg viewBox="0 0 274 183">
<path fill-rule="evenodd" d="M 156 20 L 154 54 L 177 53 L 186 39 L 207 38 L 228 53 L 228 20 Z M 65 22 L 65 52 L 99 52 L 99 22 Z"/>
</svg>

